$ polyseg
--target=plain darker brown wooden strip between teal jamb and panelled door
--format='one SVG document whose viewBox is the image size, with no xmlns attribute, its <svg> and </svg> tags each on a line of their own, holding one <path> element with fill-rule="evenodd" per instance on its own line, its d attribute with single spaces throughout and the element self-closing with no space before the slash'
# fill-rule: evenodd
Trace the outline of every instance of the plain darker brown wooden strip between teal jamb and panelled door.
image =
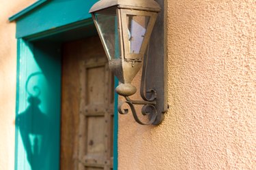
<svg viewBox="0 0 256 170">
<path fill-rule="evenodd" d="M 61 170 L 75 168 L 78 142 L 79 116 L 79 56 L 73 53 L 75 46 L 62 47 L 62 89 L 61 89 Z"/>
</svg>

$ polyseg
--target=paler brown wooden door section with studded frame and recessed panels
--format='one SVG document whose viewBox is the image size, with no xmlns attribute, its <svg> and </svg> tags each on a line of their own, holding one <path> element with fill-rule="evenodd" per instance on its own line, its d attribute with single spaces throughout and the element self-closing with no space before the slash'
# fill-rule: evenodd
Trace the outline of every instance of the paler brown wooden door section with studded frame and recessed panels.
<svg viewBox="0 0 256 170">
<path fill-rule="evenodd" d="M 79 170 L 110 169 L 113 167 L 113 76 L 104 56 L 85 58 L 80 68 Z"/>
</svg>

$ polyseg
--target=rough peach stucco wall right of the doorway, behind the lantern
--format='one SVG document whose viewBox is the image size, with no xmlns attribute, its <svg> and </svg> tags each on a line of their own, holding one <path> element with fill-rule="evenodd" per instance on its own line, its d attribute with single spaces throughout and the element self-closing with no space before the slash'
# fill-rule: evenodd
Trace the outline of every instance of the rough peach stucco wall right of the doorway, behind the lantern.
<svg viewBox="0 0 256 170">
<path fill-rule="evenodd" d="M 160 126 L 119 116 L 119 169 L 255 169 L 256 1 L 167 10 L 171 107 Z"/>
</svg>

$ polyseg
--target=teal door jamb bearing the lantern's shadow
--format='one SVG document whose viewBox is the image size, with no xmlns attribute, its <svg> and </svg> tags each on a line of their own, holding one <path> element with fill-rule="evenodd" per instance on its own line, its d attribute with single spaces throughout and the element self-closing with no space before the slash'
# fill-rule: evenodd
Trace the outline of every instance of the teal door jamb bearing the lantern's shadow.
<svg viewBox="0 0 256 170">
<path fill-rule="evenodd" d="M 59 169 L 59 48 L 18 39 L 15 170 Z"/>
</svg>

